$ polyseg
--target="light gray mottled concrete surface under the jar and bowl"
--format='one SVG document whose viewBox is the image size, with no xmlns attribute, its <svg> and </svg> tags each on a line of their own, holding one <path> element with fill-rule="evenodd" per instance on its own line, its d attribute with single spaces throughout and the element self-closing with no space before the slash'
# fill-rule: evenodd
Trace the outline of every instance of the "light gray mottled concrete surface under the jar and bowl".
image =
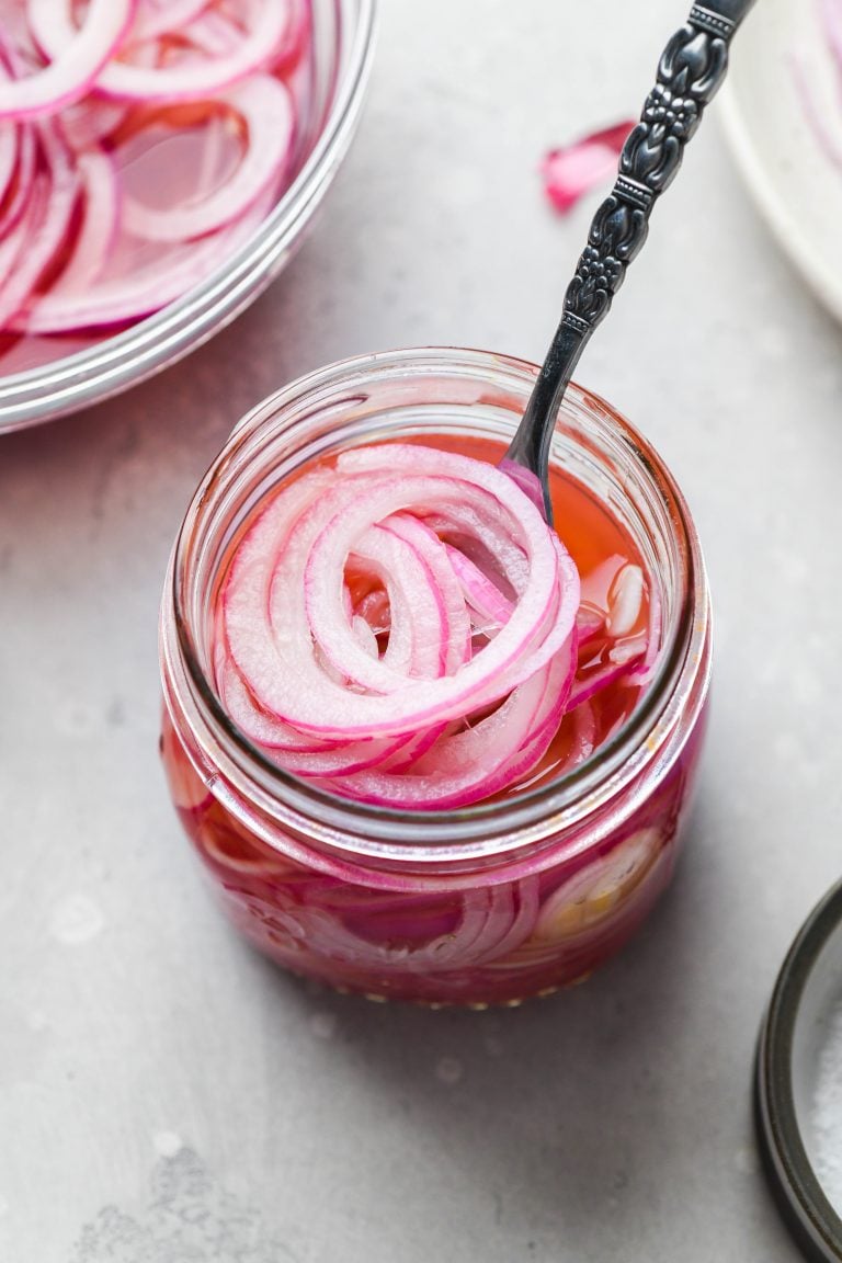
<svg viewBox="0 0 842 1263">
<path fill-rule="evenodd" d="M 750 1075 L 842 871 L 842 335 L 712 119 L 579 374 L 677 472 L 717 610 L 698 805 L 646 930 L 511 1012 L 304 986 L 218 919 L 157 753 L 167 554 L 234 421 L 359 351 L 540 359 L 593 203 L 555 217 L 538 160 L 636 111 L 684 11 L 384 0 L 361 133 L 289 270 L 188 361 L 0 445 L 3 1260 L 797 1258 Z"/>
</svg>

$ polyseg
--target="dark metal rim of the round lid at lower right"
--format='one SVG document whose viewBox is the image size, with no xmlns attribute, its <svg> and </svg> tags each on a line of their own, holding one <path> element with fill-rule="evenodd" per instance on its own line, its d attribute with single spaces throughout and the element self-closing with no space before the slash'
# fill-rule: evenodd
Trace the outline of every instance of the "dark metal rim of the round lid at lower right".
<svg viewBox="0 0 842 1263">
<path fill-rule="evenodd" d="M 798 1125 L 793 1090 L 793 1046 L 802 1000 L 813 967 L 831 938 L 842 932 L 842 882 L 798 931 L 764 1017 L 755 1060 L 755 1124 L 773 1195 L 807 1258 L 842 1260 L 842 1218 L 834 1211 Z"/>
</svg>

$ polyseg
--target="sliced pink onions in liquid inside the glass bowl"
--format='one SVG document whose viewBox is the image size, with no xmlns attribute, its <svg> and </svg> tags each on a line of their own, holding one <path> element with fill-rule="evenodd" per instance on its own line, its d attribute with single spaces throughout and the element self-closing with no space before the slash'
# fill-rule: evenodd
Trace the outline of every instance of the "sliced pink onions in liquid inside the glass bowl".
<svg viewBox="0 0 842 1263">
<path fill-rule="evenodd" d="M 21 0 L 0 32 L 0 326 L 134 322 L 245 242 L 288 174 L 298 123 L 279 62 L 292 68 L 308 29 L 299 0 Z M 170 192 L 159 133 L 199 123 L 192 189 Z M 129 192 L 139 157 L 168 203 Z"/>
</svg>

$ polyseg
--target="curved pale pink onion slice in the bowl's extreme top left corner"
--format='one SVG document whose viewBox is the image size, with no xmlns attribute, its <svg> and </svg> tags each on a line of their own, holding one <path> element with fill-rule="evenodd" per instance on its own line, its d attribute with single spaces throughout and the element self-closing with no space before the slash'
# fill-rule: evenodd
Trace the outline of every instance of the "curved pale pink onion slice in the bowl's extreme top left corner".
<svg viewBox="0 0 842 1263">
<path fill-rule="evenodd" d="M 35 32 L 62 25 L 66 0 L 28 0 Z M 83 96 L 114 56 L 134 18 L 135 0 L 91 0 L 82 27 L 71 27 L 52 62 L 23 78 L 0 82 L 0 117 L 54 112 Z"/>
</svg>

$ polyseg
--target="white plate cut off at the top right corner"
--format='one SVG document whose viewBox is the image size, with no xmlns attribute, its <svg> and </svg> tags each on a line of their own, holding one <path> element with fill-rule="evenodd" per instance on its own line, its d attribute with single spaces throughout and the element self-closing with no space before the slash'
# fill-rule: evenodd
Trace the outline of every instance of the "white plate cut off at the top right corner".
<svg viewBox="0 0 842 1263">
<path fill-rule="evenodd" d="M 842 167 L 810 121 L 804 86 L 842 160 L 842 75 L 819 27 L 818 0 L 761 0 L 736 35 L 717 105 L 757 207 L 842 320 Z"/>
</svg>

